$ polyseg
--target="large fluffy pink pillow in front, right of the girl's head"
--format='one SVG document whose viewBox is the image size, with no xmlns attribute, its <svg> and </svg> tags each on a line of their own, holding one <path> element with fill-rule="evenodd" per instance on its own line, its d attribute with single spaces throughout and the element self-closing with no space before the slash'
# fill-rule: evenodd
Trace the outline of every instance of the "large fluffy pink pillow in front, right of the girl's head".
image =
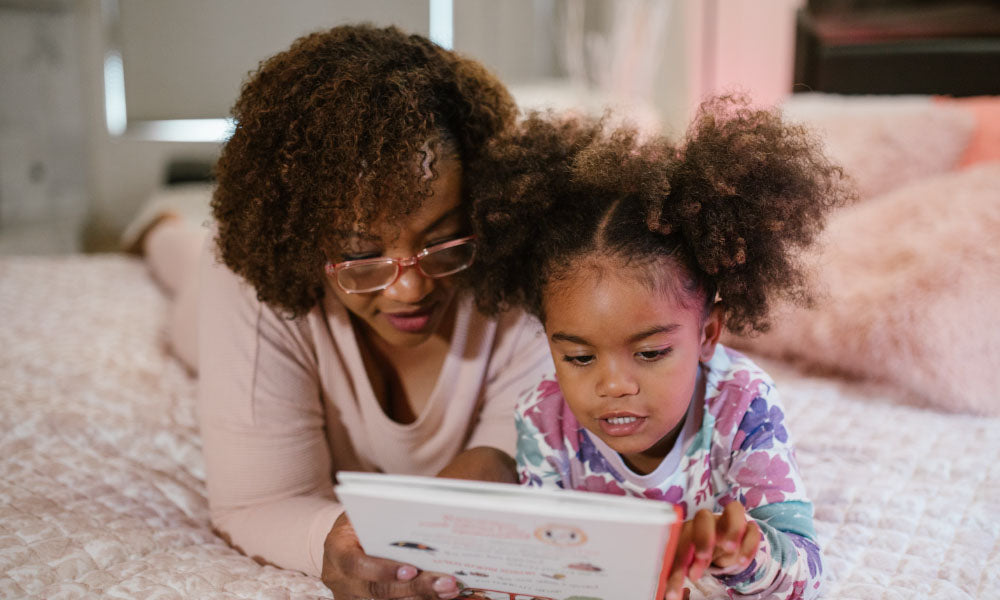
<svg viewBox="0 0 1000 600">
<path fill-rule="evenodd" d="M 726 343 L 888 382 L 909 403 L 1000 415 L 1000 163 L 842 209 L 815 265 L 811 309 Z"/>
</svg>

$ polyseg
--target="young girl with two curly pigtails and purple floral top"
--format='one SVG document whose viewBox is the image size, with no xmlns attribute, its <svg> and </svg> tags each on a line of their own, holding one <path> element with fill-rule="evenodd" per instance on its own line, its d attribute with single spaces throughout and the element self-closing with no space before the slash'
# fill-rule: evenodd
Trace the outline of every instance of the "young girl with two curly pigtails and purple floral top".
<svg viewBox="0 0 1000 600">
<path fill-rule="evenodd" d="M 534 115 L 472 190 L 479 303 L 538 316 L 554 376 L 522 396 L 522 482 L 680 505 L 666 597 L 803 598 L 822 565 L 774 383 L 718 343 L 807 300 L 796 251 L 845 199 L 799 128 L 739 100 L 685 142 Z"/>
</svg>

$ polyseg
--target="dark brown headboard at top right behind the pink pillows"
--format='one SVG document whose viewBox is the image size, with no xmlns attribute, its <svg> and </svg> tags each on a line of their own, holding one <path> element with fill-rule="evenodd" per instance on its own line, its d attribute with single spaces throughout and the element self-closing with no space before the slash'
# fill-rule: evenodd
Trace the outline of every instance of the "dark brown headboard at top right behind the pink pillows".
<svg viewBox="0 0 1000 600">
<path fill-rule="evenodd" d="M 808 0 L 794 77 L 796 92 L 1000 94 L 1000 3 Z"/>
</svg>

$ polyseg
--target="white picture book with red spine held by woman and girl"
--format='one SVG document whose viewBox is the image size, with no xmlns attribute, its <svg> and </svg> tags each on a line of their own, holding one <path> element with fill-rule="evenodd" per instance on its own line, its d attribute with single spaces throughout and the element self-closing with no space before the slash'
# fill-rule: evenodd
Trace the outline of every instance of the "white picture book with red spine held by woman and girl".
<svg viewBox="0 0 1000 600">
<path fill-rule="evenodd" d="M 371 556 L 450 573 L 462 598 L 661 598 L 672 504 L 570 490 L 343 472 L 337 497 Z"/>
</svg>

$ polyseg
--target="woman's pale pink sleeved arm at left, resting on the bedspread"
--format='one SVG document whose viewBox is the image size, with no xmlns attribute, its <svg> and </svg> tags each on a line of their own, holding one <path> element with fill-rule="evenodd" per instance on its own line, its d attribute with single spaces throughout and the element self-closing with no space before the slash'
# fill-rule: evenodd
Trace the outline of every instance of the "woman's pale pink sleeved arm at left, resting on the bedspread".
<svg viewBox="0 0 1000 600">
<path fill-rule="evenodd" d="M 213 524 L 248 556 L 319 575 L 341 508 L 311 353 L 207 246 L 198 405 Z"/>
</svg>

